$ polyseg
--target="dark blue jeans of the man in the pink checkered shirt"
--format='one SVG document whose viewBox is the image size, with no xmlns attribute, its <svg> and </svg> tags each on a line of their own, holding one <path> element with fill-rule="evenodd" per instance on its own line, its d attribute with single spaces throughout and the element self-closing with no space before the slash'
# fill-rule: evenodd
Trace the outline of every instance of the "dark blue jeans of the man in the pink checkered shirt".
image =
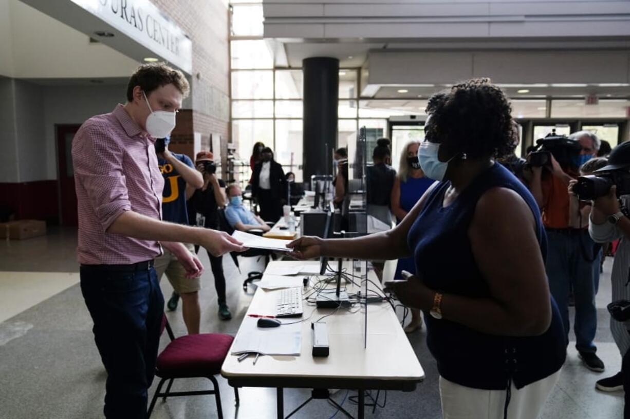
<svg viewBox="0 0 630 419">
<path fill-rule="evenodd" d="M 155 374 L 164 298 L 156 271 L 81 266 L 81 292 L 107 371 L 106 418 L 146 418 Z"/>
</svg>

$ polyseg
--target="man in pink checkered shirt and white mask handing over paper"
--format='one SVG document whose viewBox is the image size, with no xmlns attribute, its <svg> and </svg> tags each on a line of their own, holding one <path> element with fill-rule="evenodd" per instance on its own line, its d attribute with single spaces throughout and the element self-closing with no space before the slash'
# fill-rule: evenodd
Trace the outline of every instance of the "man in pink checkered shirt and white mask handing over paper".
<svg viewBox="0 0 630 419">
<path fill-rule="evenodd" d="M 244 250 L 226 233 L 161 221 L 164 180 L 154 142 L 173 130 L 188 91 L 180 71 L 142 65 L 129 81 L 127 103 L 90 118 L 72 142 L 81 291 L 108 373 L 106 418 L 146 417 L 164 311 L 153 268 L 161 246 L 190 277 L 203 266 L 181 242 L 217 256 Z"/>
</svg>

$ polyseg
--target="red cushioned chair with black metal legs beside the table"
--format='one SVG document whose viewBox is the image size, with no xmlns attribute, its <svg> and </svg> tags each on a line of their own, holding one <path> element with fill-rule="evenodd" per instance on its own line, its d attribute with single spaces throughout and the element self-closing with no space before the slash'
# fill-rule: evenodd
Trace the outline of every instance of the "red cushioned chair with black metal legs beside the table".
<svg viewBox="0 0 630 419">
<path fill-rule="evenodd" d="M 156 376 L 160 378 L 156 393 L 153 395 L 147 418 L 156 404 L 157 398 L 176 396 L 198 396 L 201 394 L 214 394 L 217 401 L 217 415 L 223 419 L 221 408 L 221 396 L 219 395 L 219 383 L 215 375 L 221 372 L 223 361 L 227 357 L 234 338 L 222 333 L 200 333 L 199 335 L 186 335 L 175 338 L 173 330 L 166 320 L 162 320 L 162 331 L 168 333 L 171 342 L 157 355 Z M 176 378 L 207 378 L 212 381 L 214 389 L 206 391 L 178 391 L 171 393 L 171 386 Z M 169 380 L 166 392 L 160 393 L 162 386 Z M 239 404 L 238 388 L 234 388 L 236 405 Z"/>
</svg>

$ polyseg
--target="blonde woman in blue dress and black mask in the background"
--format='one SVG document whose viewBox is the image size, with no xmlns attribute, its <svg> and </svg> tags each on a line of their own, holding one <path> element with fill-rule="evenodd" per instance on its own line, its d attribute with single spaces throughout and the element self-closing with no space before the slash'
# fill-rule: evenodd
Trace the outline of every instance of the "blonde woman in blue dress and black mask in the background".
<svg viewBox="0 0 630 419">
<path fill-rule="evenodd" d="M 435 182 L 433 179 L 425 176 L 425 172 L 420 167 L 420 162 L 418 161 L 419 147 L 420 142 L 412 140 L 404 145 L 403 152 L 400 154 L 398 173 L 396 174 L 391 194 L 391 210 L 392 214 L 396 216 L 397 223 L 403 221 L 403 218 Z M 416 273 L 416 262 L 413 257 L 398 259 L 394 279 L 403 279 L 403 271 L 411 274 Z M 411 308 L 410 311 L 411 321 L 404 327 L 405 333 L 415 332 L 422 327 L 420 310 Z"/>
</svg>

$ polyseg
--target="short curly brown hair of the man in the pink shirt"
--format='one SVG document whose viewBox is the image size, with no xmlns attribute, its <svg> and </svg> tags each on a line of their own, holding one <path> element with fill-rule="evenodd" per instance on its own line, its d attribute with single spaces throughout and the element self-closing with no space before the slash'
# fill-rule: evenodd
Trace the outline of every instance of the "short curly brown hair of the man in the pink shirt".
<svg viewBox="0 0 630 419">
<path fill-rule="evenodd" d="M 140 86 L 140 89 L 149 96 L 149 93 L 167 84 L 173 84 L 184 95 L 184 98 L 190 92 L 190 84 L 180 70 L 175 70 L 163 62 L 142 64 L 129 79 L 127 100 L 130 102 L 134 100 L 135 86 Z"/>
</svg>

